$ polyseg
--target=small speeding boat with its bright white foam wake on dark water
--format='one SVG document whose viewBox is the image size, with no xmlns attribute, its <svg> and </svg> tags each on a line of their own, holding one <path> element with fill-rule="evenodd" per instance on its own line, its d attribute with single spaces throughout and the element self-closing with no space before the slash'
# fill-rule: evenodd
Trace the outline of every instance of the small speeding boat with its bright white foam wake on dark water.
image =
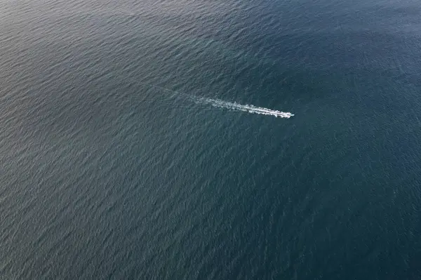
<svg viewBox="0 0 421 280">
<path fill-rule="evenodd" d="M 248 112 L 252 114 L 265 114 L 269 116 L 275 116 L 275 117 L 281 117 L 281 118 L 287 118 L 289 119 L 291 116 L 294 116 L 294 114 L 291 114 L 289 112 L 281 112 L 277 110 L 267 109 L 264 107 L 256 107 L 253 105 L 241 105 L 236 102 L 227 102 L 220 99 L 211 99 L 211 98 L 200 98 L 197 96 L 192 96 L 192 99 L 194 102 L 198 103 L 204 103 L 212 105 L 213 107 L 219 107 L 219 108 L 226 108 L 226 109 L 232 109 L 234 111 L 241 111 L 241 112 Z"/>
</svg>

